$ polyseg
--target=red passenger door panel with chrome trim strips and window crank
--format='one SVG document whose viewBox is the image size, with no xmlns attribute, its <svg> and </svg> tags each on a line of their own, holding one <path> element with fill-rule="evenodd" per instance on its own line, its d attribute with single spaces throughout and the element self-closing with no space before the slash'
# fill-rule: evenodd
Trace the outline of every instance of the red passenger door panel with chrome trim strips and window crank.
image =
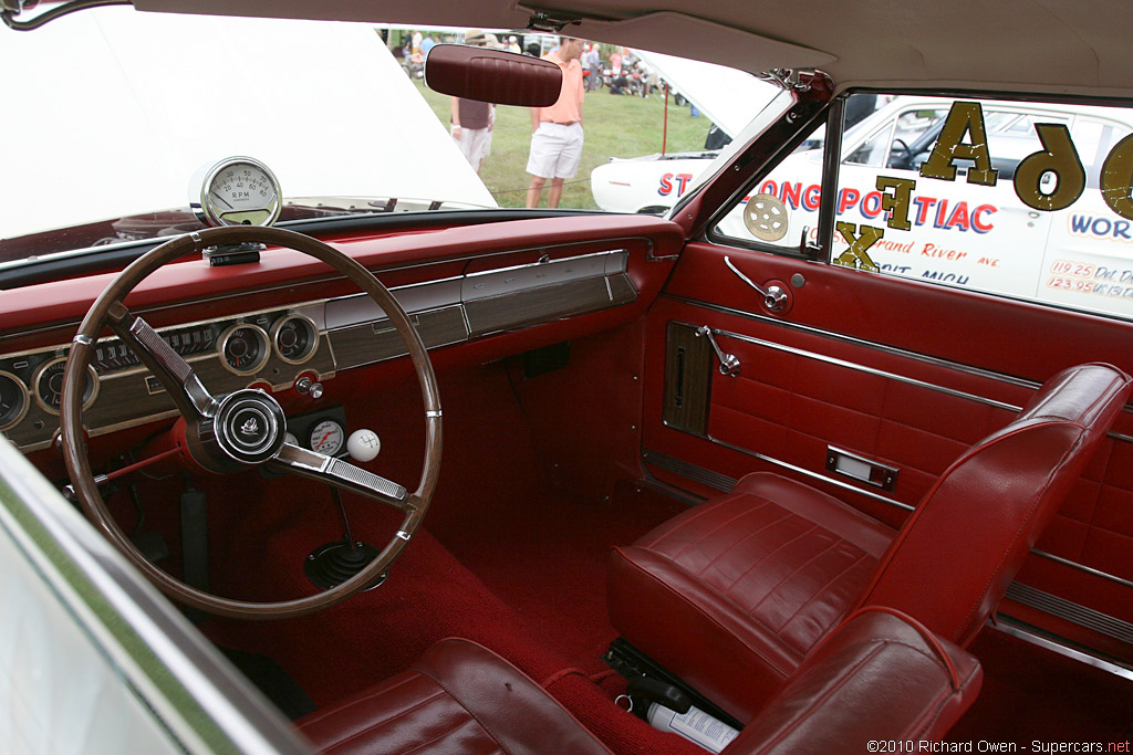
<svg viewBox="0 0 1133 755">
<path fill-rule="evenodd" d="M 764 309 L 724 265 L 725 255 L 756 283 L 801 275 L 789 309 Z M 718 348 L 740 360 L 735 377 L 722 375 L 712 355 L 710 380 L 681 378 L 705 385 L 704 432 L 663 421 L 662 383 L 666 372 L 675 379 L 671 359 L 666 367 L 674 323 L 709 326 Z M 689 244 L 681 257 L 650 310 L 647 338 L 644 444 L 651 474 L 709 496 L 743 474 L 774 470 L 894 526 L 969 445 L 1006 424 L 1054 372 L 1087 361 L 1133 370 L 1130 323 L 706 243 Z M 1039 543 L 1064 560 L 1032 555 L 1019 580 L 1133 623 L 1133 413 L 1119 418 L 1115 432 Z M 897 470 L 892 492 L 827 471 L 829 446 Z M 1036 620 L 1033 611 L 1028 620 Z M 1115 652 L 1107 638 L 1087 640 Z"/>
</svg>

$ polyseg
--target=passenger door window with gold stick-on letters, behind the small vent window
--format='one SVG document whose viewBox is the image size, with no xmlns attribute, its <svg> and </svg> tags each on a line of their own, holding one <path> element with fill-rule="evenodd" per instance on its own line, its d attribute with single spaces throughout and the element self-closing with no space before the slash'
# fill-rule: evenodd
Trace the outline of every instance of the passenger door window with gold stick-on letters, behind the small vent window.
<svg viewBox="0 0 1133 755">
<path fill-rule="evenodd" d="M 832 261 L 1133 318 L 1131 132 L 1133 110 L 894 97 L 843 137 Z"/>
</svg>

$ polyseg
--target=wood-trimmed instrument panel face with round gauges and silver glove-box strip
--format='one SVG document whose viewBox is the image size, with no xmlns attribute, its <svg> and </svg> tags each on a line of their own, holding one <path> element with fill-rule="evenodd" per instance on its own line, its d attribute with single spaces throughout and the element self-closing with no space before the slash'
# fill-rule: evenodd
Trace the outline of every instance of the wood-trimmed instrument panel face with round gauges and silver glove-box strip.
<svg viewBox="0 0 1133 755">
<path fill-rule="evenodd" d="M 642 288 L 650 289 L 647 298 L 651 299 L 671 268 L 671 258 L 668 264 L 657 264 L 664 261 L 655 254 L 657 242 L 627 237 L 521 249 L 495 247 L 465 257 L 455 274 L 451 258 L 409 266 L 412 277 L 421 280 L 390 289 L 426 348 L 455 346 L 605 310 L 644 311 L 629 306 L 646 303 Z M 381 271 L 378 275 L 386 278 Z M 284 290 L 296 295 L 304 289 Z M 148 318 L 146 307 L 136 311 Z M 159 319 L 163 316 L 168 311 Z M 301 378 L 325 381 L 344 370 L 407 353 L 385 312 L 363 293 L 296 298 L 156 329 L 214 395 L 248 386 L 283 391 Z M 545 340 L 559 337 L 552 327 Z M 68 349 L 66 341 L 56 341 L 0 352 L 0 431 L 25 453 L 50 447 L 58 430 Z M 92 437 L 177 414 L 160 381 L 117 337 L 97 342 L 88 372 L 84 424 Z"/>
</svg>

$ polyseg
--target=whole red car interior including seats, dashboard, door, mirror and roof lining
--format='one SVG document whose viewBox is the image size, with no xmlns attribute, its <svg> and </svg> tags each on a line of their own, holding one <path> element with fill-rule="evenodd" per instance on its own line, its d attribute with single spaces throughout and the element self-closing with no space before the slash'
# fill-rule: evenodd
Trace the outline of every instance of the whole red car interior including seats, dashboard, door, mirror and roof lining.
<svg viewBox="0 0 1133 755">
<path fill-rule="evenodd" d="M 884 274 L 833 188 L 818 244 L 721 231 L 815 128 L 840 148 L 852 92 L 1127 105 L 1104 3 L 963 5 L 449 9 L 775 69 L 786 100 L 663 216 L 218 220 L 0 264 L 6 443 L 316 752 L 1127 748 L 1130 318 Z M 457 50 L 429 87 L 557 96 L 557 67 Z"/>
</svg>

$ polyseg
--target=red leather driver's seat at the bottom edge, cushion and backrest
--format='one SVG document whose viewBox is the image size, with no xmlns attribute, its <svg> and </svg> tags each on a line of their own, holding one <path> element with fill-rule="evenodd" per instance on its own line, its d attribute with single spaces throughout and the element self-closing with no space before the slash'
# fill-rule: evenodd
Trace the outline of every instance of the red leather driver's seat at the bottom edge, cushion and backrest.
<svg viewBox="0 0 1133 755">
<path fill-rule="evenodd" d="M 976 700 L 981 679 L 969 653 L 908 617 L 866 609 L 821 643 L 724 755 L 937 739 Z M 463 640 L 434 645 L 409 671 L 298 726 L 334 755 L 610 752 L 528 677 Z"/>
</svg>

